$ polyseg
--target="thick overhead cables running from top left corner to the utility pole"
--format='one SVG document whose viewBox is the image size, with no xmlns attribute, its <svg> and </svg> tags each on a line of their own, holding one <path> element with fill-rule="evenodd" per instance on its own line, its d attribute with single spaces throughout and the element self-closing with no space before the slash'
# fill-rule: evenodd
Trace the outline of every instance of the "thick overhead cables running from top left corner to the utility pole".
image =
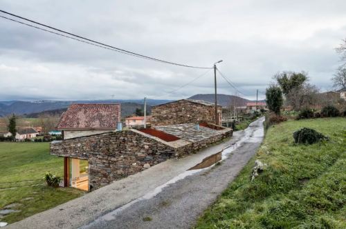
<svg viewBox="0 0 346 229">
<path fill-rule="evenodd" d="M 69 35 L 71 35 L 71 36 L 73 36 L 73 37 L 78 37 L 78 39 L 75 39 L 75 40 L 77 40 L 77 41 L 81 41 L 80 39 L 83 39 L 83 40 L 86 40 L 86 41 L 89 41 L 89 42 L 92 42 L 92 43 L 97 43 L 97 44 L 100 45 L 100 46 L 106 46 L 106 47 L 111 48 L 111 49 L 113 49 L 113 50 L 118 50 L 119 52 L 121 52 L 121 53 L 123 53 L 123 54 L 130 54 L 130 55 L 132 55 L 132 56 L 134 56 L 134 57 L 140 57 L 140 58 L 149 59 L 149 60 L 152 60 L 152 61 L 158 61 L 158 62 L 161 62 L 161 63 L 168 63 L 168 64 L 172 64 L 172 65 L 175 65 L 175 66 L 182 66 L 182 67 L 186 67 L 186 68 L 203 68 L 203 69 L 211 69 L 210 67 L 189 66 L 189 65 L 185 65 L 185 64 L 181 64 L 181 63 L 174 63 L 174 62 L 171 62 L 171 61 L 165 61 L 165 60 L 162 60 L 162 59 L 156 59 L 156 58 L 154 58 L 154 57 L 145 56 L 145 55 L 143 55 L 143 54 L 138 54 L 138 53 L 136 53 L 136 52 L 131 52 L 131 51 L 128 51 L 128 50 L 124 50 L 124 49 L 122 49 L 122 48 L 116 48 L 116 47 L 114 47 L 114 46 L 109 46 L 109 45 L 107 45 L 107 44 L 105 44 L 105 43 L 101 43 L 101 42 L 99 42 L 99 41 L 94 41 L 94 40 L 92 40 L 92 39 L 88 39 L 88 38 L 86 38 L 86 37 L 82 37 L 82 36 L 80 36 L 80 35 L 73 34 L 73 33 L 71 33 L 71 32 L 66 32 L 66 31 L 64 31 L 64 30 L 60 30 L 60 29 L 54 28 L 54 27 L 52 27 L 52 26 L 47 26 L 47 25 L 45 25 L 44 23 L 39 23 L 39 22 L 37 22 L 37 21 L 33 21 L 33 20 L 27 19 L 27 18 L 25 18 L 25 17 L 21 17 L 21 16 L 16 15 L 16 14 L 12 14 L 12 13 L 6 12 L 6 11 L 4 11 L 4 10 L 0 10 L 0 12 L 3 12 L 4 14 L 11 15 L 12 17 L 17 17 L 17 18 L 22 19 L 22 20 L 25 20 L 25 21 L 30 21 L 31 23 L 35 23 L 35 24 L 37 24 L 37 25 L 39 25 L 39 26 L 44 26 L 44 27 L 49 28 L 49 29 L 51 29 L 51 30 L 55 30 L 55 31 L 58 31 L 58 32 L 62 32 L 62 33 L 64 33 L 64 34 L 69 34 Z M 2 17 L 2 16 L 1 16 L 1 17 Z M 30 27 L 33 27 L 33 28 L 38 28 L 38 27 L 35 27 L 35 26 L 31 26 L 31 25 L 29 25 L 29 24 L 27 24 L 27 23 L 23 23 L 23 22 L 14 20 L 14 19 L 9 19 L 9 18 L 7 18 L 7 17 L 2 17 L 2 18 L 3 18 L 3 19 L 8 19 L 8 20 L 11 20 L 11 21 L 15 21 L 15 22 L 17 22 L 17 23 L 21 23 L 21 24 L 24 24 L 24 25 L 26 25 L 26 26 L 30 26 Z M 40 29 L 42 29 L 42 28 L 40 28 Z M 44 30 L 44 29 L 42 29 L 42 30 Z M 46 31 L 46 32 L 52 32 L 52 31 L 49 31 L 49 30 L 44 30 L 44 31 Z M 52 32 L 52 33 L 53 33 L 53 34 L 57 34 L 56 32 Z M 62 34 L 59 34 L 59 35 L 62 35 Z M 69 37 L 69 38 L 71 38 L 71 37 Z M 84 43 L 86 43 L 86 42 L 84 42 Z M 89 43 L 89 44 L 90 44 L 90 43 Z"/>
</svg>

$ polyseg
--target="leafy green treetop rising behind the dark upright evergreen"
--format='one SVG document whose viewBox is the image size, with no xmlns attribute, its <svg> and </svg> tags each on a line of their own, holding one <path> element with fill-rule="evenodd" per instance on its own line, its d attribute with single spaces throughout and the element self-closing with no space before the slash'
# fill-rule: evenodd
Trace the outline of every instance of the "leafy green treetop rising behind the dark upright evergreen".
<svg viewBox="0 0 346 229">
<path fill-rule="evenodd" d="M 282 92 L 286 96 L 293 88 L 302 86 L 302 84 L 307 81 L 306 72 L 279 72 L 275 74 L 274 78 L 280 85 Z"/>
</svg>

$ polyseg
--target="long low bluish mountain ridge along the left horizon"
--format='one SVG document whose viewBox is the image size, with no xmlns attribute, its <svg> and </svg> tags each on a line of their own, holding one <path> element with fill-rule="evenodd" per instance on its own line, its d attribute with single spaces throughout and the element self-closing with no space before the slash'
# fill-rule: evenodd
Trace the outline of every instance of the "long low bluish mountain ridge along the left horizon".
<svg viewBox="0 0 346 229">
<path fill-rule="evenodd" d="M 151 106 L 167 103 L 171 100 L 147 100 L 147 110 L 151 111 Z M 135 112 L 136 108 L 143 108 L 143 99 L 124 100 L 94 100 L 94 101 L 0 101 L 0 117 L 15 113 L 16 115 L 38 116 L 41 112 L 47 111 L 50 114 L 63 112 L 71 103 L 121 103 L 122 117 L 126 117 Z M 53 111 L 52 111 L 53 110 Z"/>
</svg>

